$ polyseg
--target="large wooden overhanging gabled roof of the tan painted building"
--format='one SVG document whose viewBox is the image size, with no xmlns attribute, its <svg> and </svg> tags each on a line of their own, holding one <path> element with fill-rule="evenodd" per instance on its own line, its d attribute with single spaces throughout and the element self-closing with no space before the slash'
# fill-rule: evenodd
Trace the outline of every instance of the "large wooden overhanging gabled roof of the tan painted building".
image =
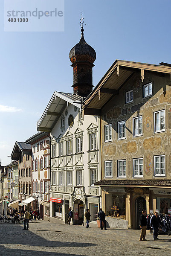
<svg viewBox="0 0 171 256">
<path fill-rule="evenodd" d="M 94 90 L 84 100 L 83 109 L 85 114 L 101 115 L 101 108 L 109 101 L 113 95 L 119 94 L 120 87 L 133 75 L 139 72 L 142 81 L 145 71 L 158 74 L 166 73 L 171 75 L 171 65 L 161 63 L 161 65 L 147 64 L 133 61 L 116 60 L 107 73 L 102 77 Z"/>
</svg>

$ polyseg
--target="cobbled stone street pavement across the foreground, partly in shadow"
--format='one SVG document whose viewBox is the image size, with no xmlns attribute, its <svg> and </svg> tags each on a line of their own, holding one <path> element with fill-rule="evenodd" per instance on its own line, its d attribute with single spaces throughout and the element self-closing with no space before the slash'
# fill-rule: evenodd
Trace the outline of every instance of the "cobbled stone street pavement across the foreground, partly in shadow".
<svg viewBox="0 0 171 256">
<path fill-rule="evenodd" d="M 171 236 L 153 235 L 139 241 L 140 230 L 101 230 L 79 225 L 54 224 L 49 221 L 21 224 L 0 224 L 0 256 L 170 256 Z"/>
</svg>

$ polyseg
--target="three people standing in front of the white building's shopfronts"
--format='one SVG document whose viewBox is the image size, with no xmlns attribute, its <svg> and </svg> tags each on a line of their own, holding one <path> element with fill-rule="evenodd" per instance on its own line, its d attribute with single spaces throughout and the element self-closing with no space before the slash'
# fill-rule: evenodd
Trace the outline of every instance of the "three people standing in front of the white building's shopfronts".
<svg viewBox="0 0 171 256">
<path fill-rule="evenodd" d="M 70 222 L 71 222 L 71 219 L 72 219 L 72 210 L 71 210 L 71 207 L 69 208 L 69 212 L 68 212 L 68 225 L 70 225 Z M 91 217 L 91 214 L 89 212 L 89 209 L 86 210 L 84 216 L 86 217 L 86 227 L 88 228 L 89 227 L 89 222 L 90 222 L 90 217 Z M 99 212 L 98 212 L 98 217 L 100 219 L 100 227 L 101 227 L 101 230 L 103 230 L 103 223 L 104 223 L 104 230 L 107 230 L 106 228 L 106 221 L 105 221 L 105 218 L 106 218 L 106 215 L 104 213 L 104 211 L 100 208 L 99 209 Z"/>
</svg>

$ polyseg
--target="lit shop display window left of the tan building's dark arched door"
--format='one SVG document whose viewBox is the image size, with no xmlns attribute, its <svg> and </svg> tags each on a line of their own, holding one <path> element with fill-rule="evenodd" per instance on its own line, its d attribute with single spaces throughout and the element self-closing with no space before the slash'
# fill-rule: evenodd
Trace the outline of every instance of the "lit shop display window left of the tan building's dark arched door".
<svg viewBox="0 0 171 256">
<path fill-rule="evenodd" d="M 106 215 L 125 219 L 125 195 L 106 194 Z"/>
</svg>

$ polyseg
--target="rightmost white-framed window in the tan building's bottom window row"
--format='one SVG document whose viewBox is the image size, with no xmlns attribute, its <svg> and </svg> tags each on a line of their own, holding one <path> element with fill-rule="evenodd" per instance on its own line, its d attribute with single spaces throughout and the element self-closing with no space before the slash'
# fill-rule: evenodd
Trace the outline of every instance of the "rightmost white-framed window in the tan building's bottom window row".
<svg viewBox="0 0 171 256">
<path fill-rule="evenodd" d="M 154 176 L 165 176 L 165 155 L 154 156 Z"/>
</svg>

